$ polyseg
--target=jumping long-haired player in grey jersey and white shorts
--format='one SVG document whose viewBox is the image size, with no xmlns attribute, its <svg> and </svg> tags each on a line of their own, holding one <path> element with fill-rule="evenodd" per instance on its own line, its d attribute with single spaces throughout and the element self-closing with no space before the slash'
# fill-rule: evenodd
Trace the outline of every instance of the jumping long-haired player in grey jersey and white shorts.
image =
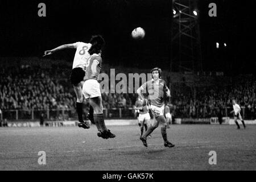
<svg viewBox="0 0 256 182">
<path fill-rule="evenodd" d="M 115 135 L 106 128 L 103 117 L 103 106 L 100 84 L 98 83 L 98 75 L 101 71 L 101 50 L 105 41 L 100 36 L 93 36 L 92 47 L 89 49 L 90 59 L 89 65 L 86 67 L 85 82 L 82 86 L 82 94 L 85 98 L 89 98 L 89 103 L 93 107 L 93 118 L 98 129 L 98 137 L 104 139 L 114 138 Z"/>
</svg>

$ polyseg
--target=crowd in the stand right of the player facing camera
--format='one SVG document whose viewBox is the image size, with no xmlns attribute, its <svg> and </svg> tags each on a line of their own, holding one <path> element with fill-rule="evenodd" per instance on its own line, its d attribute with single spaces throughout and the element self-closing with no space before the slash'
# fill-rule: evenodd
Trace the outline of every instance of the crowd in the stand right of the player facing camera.
<svg viewBox="0 0 256 182">
<path fill-rule="evenodd" d="M 210 117 L 222 112 L 226 107 L 232 109 L 232 99 L 245 107 L 245 112 L 251 119 L 256 118 L 256 81 L 240 80 L 233 86 L 222 88 L 210 87 L 197 89 L 196 96 L 184 93 L 174 93 L 171 104 L 173 110 L 181 117 Z M 229 110 L 230 111 L 230 110 Z"/>
</svg>

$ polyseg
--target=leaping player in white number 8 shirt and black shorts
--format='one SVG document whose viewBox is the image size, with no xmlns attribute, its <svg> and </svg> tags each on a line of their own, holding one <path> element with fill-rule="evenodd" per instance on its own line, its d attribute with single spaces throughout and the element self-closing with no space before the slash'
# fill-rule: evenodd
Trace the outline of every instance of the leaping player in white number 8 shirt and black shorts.
<svg viewBox="0 0 256 182">
<path fill-rule="evenodd" d="M 73 44 L 64 44 L 62 46 L 59 46 L 52 50 L 44 52 L 44 56 L 46 56 L 46 55 L 52 55 L 52 53 L 56 51 L 60 51 L 62 49 L 66 49 L 66 48 L 76 49 L 70 81 L 73 85 L 73 88 L 76 93 L 76 98 L 77 98 L 76 111 L 79 118 L 78 126 L 84 129 L 89 129 L 90 127 L 88 123 L 84 122 L 84 119 L 82 117 L 82 98 L 83 98 L 82 85 L 84 84 L 85 69 L 89 65 L 90 54 L 88 53 L 88 51 L 90 47 L 92 47 L 91 42 L 92 42 L 92 39 L 90 40 L 90 43 L 76 42 Z M 90 119 L 90 121 L 92 121 L 92 123 L 94 123 L 92 106 L 90 106 L 90 111 L 87 117 Z"/>
</svg>

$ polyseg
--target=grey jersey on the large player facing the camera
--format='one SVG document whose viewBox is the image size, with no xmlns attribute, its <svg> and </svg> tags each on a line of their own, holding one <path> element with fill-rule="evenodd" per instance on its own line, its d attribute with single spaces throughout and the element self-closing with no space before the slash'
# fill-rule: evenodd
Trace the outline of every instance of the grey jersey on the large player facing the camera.
<svg viewBox="0 0 256 182">
<path fill-rule="evenodd" d="M 159 79 L 159 82 L 155 82 L 153 79 L 145 82 L 141 88 L 147 90 L 148 100 L 151 105 L 162 107 L 164 92 L 168 90 L 166 82 L 162 79 Z"/>
</svg>

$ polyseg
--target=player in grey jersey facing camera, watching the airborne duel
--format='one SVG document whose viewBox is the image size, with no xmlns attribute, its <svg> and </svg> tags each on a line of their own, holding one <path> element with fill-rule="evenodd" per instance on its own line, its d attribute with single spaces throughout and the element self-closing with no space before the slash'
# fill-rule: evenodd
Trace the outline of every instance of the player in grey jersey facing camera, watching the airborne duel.
<svg viewBox="0 0 256 182">
<path fill-rule="evenodd" d="M 164 118 L 164 94 L 167 95 L 167 97 L 171 97 L 170 90 L 168 89 L 166 82 L 161 77 L 161 69 L 160 68 L 154 68 L 151 70 L 152 74 L 152 80 L 145 82 L 138 90 L 137 93 L 139 94 L 139 97 L 144 100 L 144 96 L 142 94 L 143 90 L 146 90 L 148 94 L 148 100 L 150 101 L 150 109 L 152 111 L 152 114 L 154 115 L 154 123 L 148 127 L 148 130 L 142 135 L 140 138 L 143 142 L 143 145 L 147 147 L 147 137 L 150 135 L 159 124 L 162 124 L 161 127 L 161 133 L 164 140 L 164 146 L 165 147 L 174 147 L 175 145 L 170 143 L 167 140 L 167 133 L 166 133 L 166 118 Z"/>
</svg>

